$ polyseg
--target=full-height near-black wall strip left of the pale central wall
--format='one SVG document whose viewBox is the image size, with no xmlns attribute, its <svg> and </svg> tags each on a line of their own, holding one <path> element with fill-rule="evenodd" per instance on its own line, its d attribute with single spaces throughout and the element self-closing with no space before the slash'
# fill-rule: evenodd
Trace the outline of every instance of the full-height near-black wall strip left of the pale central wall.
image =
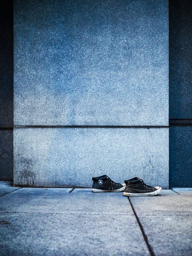
<svg viewBox="0 0 192 256">
<path fill-rule="evenodd" d="M 0 9 L 0 180 L 13 180 L 13 2 Z"/>
</svg>

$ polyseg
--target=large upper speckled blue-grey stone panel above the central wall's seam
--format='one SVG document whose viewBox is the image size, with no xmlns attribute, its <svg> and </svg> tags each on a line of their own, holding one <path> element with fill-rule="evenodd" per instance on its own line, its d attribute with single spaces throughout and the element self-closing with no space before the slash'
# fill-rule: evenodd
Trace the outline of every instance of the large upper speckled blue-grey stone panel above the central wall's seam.
<svg viewBox="0 0 192 256">
<path fill-rule="evenodd" d="M 167 0 L 15 0 L 14 123 L 168 125 Z"/>
</svg>

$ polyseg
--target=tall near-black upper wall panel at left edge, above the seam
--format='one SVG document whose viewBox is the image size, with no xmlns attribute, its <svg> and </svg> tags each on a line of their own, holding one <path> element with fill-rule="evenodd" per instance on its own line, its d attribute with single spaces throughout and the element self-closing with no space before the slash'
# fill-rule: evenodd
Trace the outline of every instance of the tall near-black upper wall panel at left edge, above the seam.
<svg viewBox="0 0 192 256">
<path fill-rule="evenodd" d="M 0 10 L 0 128 L 13 127 L 13 1 Z"/>
</svg>

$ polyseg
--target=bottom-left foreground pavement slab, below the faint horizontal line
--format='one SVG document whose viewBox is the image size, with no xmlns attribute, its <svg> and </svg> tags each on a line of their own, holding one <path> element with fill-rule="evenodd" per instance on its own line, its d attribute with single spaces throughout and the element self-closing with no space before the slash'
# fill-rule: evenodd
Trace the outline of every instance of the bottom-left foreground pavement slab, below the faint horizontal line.
<svg viewBox="0 0 192 256">
<path fill-rule="evenodd" d="M 130 215 L 17 213 L 0 219 L 10 223 L 1 225 L 1 256 L 150 256 Z"/>
</svg>

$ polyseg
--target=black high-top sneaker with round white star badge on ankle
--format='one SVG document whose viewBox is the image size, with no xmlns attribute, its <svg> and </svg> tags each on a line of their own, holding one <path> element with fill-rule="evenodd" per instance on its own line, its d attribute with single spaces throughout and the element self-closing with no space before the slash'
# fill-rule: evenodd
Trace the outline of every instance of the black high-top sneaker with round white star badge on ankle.
<svg viewBox="0 0 192 256">
<path fill-rule="evenodd" d="M 125 184 L 116 183 L 107 175 L 93 177 L 93 192 L 121 192 L 125 189 Z"/>
</svg>

